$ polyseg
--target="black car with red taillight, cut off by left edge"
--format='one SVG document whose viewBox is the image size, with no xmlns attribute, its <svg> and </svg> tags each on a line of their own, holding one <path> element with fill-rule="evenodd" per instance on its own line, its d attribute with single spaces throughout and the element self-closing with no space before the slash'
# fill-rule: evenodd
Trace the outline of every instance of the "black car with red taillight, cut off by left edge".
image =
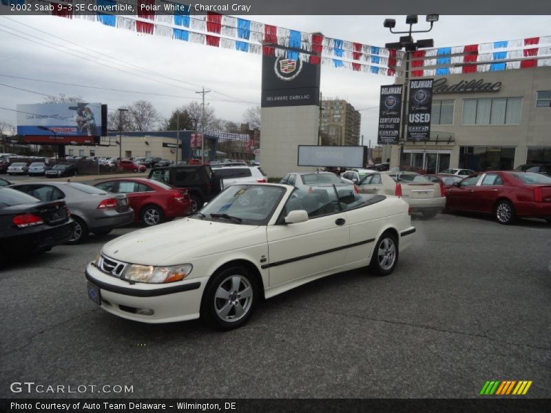
<svg viewBox="0 0 551 413">
<path fill-rule="evenodd" d="M 0 188 L 0 266 L 10 258 L 50 251 L 70 239 L 73 221 L 63 201 L 41 202 Z"/>
</svg>

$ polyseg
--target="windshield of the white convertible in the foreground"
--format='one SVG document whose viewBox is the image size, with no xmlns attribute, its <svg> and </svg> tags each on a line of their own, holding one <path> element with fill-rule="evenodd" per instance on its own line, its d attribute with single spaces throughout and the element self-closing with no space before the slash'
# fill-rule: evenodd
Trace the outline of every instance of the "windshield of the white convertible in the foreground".
<svg viewBox="0 0 551 413">
<path fill-rule="evenodd" d="M 278 206 L 284 188 L 260 185 L 232 185 L 220 193 L 200 213 L 224 222 L 265 225 Z M 211 216 L 211 214 L 217 215 Z M 220 214 L 225 216 L 220 216 Z M 231 220 L 235 217 L 238 220 Z"/>
</svg>

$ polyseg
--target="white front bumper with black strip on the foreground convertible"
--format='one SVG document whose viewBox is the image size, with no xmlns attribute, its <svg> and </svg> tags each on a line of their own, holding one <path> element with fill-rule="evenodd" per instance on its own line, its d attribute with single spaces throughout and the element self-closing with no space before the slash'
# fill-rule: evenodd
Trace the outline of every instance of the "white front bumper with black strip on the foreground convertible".
<svg viewBox="0 0 551 413">
<path fill-rule="evenodd" d="M 92 262 L 85 271 L 87 282 L 99 288 L 100 306 L 107 313 L 144 323 L 171 323 L 198 319 L 201 297 L 209 277 L 171 284 L 130 284 L 100 271 Z M 150 315 L 140 313 L 149 310 Z"/>
</svg>

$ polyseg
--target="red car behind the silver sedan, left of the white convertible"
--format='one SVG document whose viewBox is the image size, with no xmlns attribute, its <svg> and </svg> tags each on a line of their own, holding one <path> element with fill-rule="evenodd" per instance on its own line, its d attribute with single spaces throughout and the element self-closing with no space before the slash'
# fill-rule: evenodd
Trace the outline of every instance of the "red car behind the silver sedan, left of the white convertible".
<svg viewBox="0 0 551 413">
<path fill-rule="evenodd" d="M 118 178 L 94 184 L 112 193 L 125 193 L 134 209 L 134 222 L 147 226 L 190 215 L 193 212 L 187 189 L 174 189 L 163 182 L 147 178 Z"/>
</svg>

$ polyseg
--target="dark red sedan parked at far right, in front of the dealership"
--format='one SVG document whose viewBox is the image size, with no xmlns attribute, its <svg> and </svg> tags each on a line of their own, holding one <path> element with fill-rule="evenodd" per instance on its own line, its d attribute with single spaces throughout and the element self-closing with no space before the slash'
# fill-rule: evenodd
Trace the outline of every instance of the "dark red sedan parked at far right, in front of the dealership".
<svg viewBox="0 0 551 413">
<path fill-rule="evenodd" d="M 489 213 L 500 224 L 516 218 L 551 223 L 551 177 L 522 171 L 489 171 L 465 178 L 446 191 L 449 211 Z"/>
</svg>

